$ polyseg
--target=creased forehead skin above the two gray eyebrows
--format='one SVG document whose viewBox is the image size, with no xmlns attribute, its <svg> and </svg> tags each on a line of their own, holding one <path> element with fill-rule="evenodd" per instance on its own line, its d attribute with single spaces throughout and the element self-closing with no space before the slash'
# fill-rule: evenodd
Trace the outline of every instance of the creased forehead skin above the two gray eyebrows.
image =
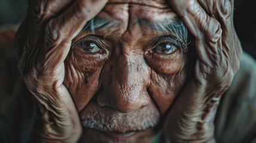
<svg viewBox="0 0 256 143">
<path fill-rule="evenodd" d="M 112 18 L 127 23 L 141 19 L 161 21 L 175 17 L 175 13 L 164 0 L 110 0 L 103 11 Z"/>
</svg>

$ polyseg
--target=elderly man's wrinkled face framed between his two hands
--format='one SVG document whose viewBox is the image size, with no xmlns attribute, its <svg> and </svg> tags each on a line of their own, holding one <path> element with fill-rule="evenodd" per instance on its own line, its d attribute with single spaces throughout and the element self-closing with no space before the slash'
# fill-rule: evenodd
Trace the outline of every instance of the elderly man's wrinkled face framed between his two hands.
<svg viewBox="0 0 256 143">
<path fill-rule="evenodd" d="M 93 142 L 150 142 L 186 80 L 186 29 L 165 1 L 109 1 L 73 40 L 64 85 Z"/>
</svg>

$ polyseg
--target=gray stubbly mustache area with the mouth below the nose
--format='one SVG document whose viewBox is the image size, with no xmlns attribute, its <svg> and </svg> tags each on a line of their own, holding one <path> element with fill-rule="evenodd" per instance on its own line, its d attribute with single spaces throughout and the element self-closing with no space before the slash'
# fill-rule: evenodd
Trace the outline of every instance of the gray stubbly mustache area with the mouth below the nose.
<svg viewBox="0 0 256 143">
<path fill-rule="evenodd" d="M 94 100 L 92 100 L 94 101 Z M 150 142 L 161 119 L 155 104 L 124 114 L 90 102 L 80 113 L 87 142 Z"/>
</svg>

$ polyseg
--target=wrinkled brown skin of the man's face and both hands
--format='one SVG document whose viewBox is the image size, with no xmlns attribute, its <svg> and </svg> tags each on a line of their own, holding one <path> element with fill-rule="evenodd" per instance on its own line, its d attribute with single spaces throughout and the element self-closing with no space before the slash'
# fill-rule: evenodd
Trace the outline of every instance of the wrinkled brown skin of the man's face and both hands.
<svg viewBox="0 0 256 143">
<path fill-rule="evenodd" d="M 233 1 L 106 3 L 29 2 L 16 53 L 41 109 L 39 141 L 150 142 L 167 115 L 162 128 L 170 141 L 215 142 L 215 112 L 241 55 Z M 114 26 L 80 32 L 95 15 Z M 195 38 L 195 63 L 188 55 L 193 52 L 183 50 L 192 46 L 175 44 L 165 32 L 138 22 L 171 21 L 177 15 Z M 88 43 L 99 50 L 86 51 L 82 44 Z M 173 51 L 159 52 L 161 44 Z"/>
</svg>

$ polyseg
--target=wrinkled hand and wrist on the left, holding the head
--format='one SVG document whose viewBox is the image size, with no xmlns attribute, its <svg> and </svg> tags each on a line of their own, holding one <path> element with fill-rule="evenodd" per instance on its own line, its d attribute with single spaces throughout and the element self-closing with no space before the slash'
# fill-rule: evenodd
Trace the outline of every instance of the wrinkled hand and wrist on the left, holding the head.
<svg viewBox="0 0 256 143">
<path fill-rule="evenodd" d="M 64 60 L 72 39 L 107 0 L 29 1 L 26 19 L 16 36 L 19 68 L 39 102 L 40 142 L 76 142 L 82 128 L 78 112 L 63 85 Z"/>
</svg>

